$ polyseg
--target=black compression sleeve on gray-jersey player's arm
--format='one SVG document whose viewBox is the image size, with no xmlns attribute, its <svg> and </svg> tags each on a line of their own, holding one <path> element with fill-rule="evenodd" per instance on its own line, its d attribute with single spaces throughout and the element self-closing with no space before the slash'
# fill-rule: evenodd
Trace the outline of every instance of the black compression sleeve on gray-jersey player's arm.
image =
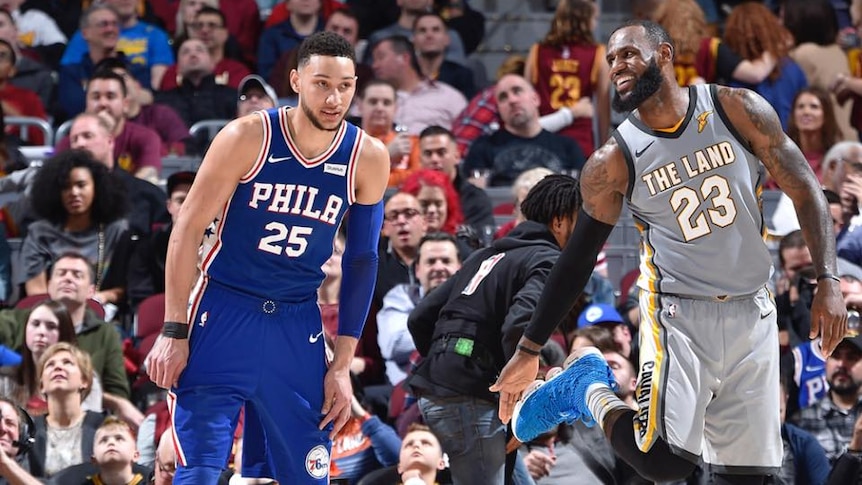
<svg viewBox="0 0 862 485">
<path fill-rule="evenodd" d="M 560 321 L 584 291 L 596 258 L 614 226 L 597 221 L 581 209 L 572 237 L 560 253 L 524 336 L 545 345 Z"/>
</svg>

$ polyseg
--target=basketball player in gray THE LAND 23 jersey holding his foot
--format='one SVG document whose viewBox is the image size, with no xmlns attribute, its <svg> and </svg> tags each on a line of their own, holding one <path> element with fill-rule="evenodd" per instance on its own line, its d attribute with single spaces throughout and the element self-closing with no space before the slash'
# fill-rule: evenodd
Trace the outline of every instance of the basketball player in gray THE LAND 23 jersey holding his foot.
<svg viewBox="0 0 862 485">
<path fill-rule="evenodd" d="M 647 479 L 683 479 L 702 459 L 711 483 L 760 484 L 780 468 L 782 443 L 758 161 L 793 200 L 811 250 L 818 275 L 811 336 L 821 336 L 825 355 L 847 326 L 831 219 L 772 107 L 745 89 L 679 87 L 673 57 L 669 35 L 652 22 L 630 22 L 611 35 L 613 104 L 631 113 L 585 165 L 572 238 L 491 390 L 500 392 L 500 418 L 513 418 L 521 441 L 563 421 L 595 421 Z M 614 396 L 613 374 L 594 348 L 573 353 L 565 370 L 518 401 L 623 201 L 642 237 L 639 409 Z"/>
</svg>

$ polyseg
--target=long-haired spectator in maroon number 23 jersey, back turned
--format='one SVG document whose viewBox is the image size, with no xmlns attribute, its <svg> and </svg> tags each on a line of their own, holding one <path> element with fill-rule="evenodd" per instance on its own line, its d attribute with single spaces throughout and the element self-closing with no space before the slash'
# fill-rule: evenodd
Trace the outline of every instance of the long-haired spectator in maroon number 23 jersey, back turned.
<svg viewBox="0 0 862 485">
<path fill-rule="evenodd" d="M 578 142 L 586 156 L 596 147 L 593 113 L 598 115 L 600 143 L 608 136 L 611 118 L 605 46 L 593 37 L 598 18 L 595 2 L 561 0 L 550 31 L 530 48 L 524 69 L 524 77 L 539 94 L 539 114 L 551 114 L 560 108 L 572 112 L 574 121 L 558 133 Z"/>
</svg>

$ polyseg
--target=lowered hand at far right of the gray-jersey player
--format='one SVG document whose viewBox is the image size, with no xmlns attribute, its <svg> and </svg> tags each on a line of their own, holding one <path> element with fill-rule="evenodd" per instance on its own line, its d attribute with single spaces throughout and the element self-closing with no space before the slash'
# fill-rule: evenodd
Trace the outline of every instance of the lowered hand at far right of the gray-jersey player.
<svg viewBox="0 0 862 485">
<path fill-rule="evenodd" d="M 811 338 L 820 335 L 824 357 L 832 355 L 847 333 L 847 307 L 838 282 L 823 278 L 811 302 Z"/>
</svg>

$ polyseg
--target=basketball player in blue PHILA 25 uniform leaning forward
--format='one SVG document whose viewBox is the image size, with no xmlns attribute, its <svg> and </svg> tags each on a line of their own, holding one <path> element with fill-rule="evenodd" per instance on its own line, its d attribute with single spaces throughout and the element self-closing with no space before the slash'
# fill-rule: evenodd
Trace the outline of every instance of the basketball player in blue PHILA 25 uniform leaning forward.
<svg viewBox="0 0 862 485">
<path fill-rule="evenodd" d="M 165 324 L 147 359 L 150 378 L 170 388 L 174 483 L 218 481 L 243 406 L 244 477 L 327 483 L 330 439 L 350 417 L 349 364 L 374 288 L 389 178 L 383 144 L 344 121 L 355 67 L 343 38 L 309 36 L 290 73 L 299 107 L 228 124 L 183 204 L 168 246 Z M 327 368 L 316 295 L 345 214 Z"/>
</svg>

